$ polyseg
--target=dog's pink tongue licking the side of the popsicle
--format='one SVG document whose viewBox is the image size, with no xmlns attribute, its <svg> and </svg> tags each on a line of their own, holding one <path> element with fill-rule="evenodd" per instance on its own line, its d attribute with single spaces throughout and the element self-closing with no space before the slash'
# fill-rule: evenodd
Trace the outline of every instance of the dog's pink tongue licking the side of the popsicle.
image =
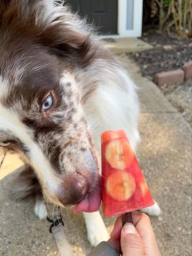
<svg viewBox="0 0 192 256">
<path fill-rule="evenodd" d="M 101 185 L 97 185 L 86 198 L 74 205 L 74 213 L 96 212 L 101 204 Z"/>
</svg>

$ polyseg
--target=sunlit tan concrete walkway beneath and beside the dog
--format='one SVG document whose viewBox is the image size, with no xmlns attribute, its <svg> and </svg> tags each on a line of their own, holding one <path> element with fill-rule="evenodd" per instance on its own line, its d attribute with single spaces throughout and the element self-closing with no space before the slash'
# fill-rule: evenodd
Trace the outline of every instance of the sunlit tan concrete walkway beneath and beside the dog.
<svg viewBox="0 0 192 256">
<path fill-rule="evenodd" d="M 138 160 L 153 197 L 162 214 L 152 217 L 157 241 L 164 256 L 191 255 L 191 127 L 165 99 L 152 82 L 138 73 L 126 56 L 126 68 L 138 84 L 141 101 Z M 0 174 L 7 171 L 4 161 Z M 16 165 L 19 165 L 19 162 Z M 13 168 L 12 163 L 12 168 Z M 14 168 L 13 168 L 14 169 Z M 48 233 L 47 221 L 33 214 L 33 200 L 14 202 L 9 196 L 10 182 L 16 173 L 0 181 L 0 255 L 59 255 Z M 82 215 L 66 217 L 67 238 L 74 253 L 84 256 L 91 250 L 86 240 Z M 108 231 L 114 219 L 105 219 Z M 154 255 L 155 256 L 155 255 Z"/>
</svg>

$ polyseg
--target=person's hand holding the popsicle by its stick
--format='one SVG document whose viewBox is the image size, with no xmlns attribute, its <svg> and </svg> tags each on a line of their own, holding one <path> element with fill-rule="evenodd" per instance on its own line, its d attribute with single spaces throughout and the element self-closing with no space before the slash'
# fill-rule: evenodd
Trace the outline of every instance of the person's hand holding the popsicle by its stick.
<svg viewBox="0 0 192 256">
<path fill-rule="evenodd" d="M 132 213 L 133 224 L 122 224 L 118 217 L 108 241 L 123 256 L 161 256 L 149 217 L 144 213 Z"/>
</svg>

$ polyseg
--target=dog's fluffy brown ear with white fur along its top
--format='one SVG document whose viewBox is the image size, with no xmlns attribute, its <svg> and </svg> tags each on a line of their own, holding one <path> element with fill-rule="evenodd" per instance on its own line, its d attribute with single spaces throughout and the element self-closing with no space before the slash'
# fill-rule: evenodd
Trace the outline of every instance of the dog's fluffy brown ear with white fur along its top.
<svg viewBox="0 0 192 256">
<path fill-rule="evenodd" d="M 92 60 L 97 47 L 92 47 L 91 29 L 86 26 L 85 21 L 79 20 L 76 14 L 71 14 L 66 7 L 61 7 L 57 18 L 46 28 L 44 25 L 41 23 L 39 39 L 52 53 L 81 64 L 88 64 Z"/>
</svg>

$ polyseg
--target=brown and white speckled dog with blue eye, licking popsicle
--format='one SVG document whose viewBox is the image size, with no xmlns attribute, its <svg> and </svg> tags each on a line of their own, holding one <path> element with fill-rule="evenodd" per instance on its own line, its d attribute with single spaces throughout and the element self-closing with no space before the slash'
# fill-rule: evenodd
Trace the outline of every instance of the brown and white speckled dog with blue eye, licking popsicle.
<svg viewBox="0 0 192 256">
<path fill-rule="evenodd" d="M 108 239 L 95 212 L 100 133 L 125 129 L 135 149 L 138 111 L 133 81 L 85 21 L 51 0 L 0 0 L 0 146 L 26 163 L 14 198 L 35 194 L 43 218 L 43 192 L 84 212 L 92 245 Z"/>
</svg>

